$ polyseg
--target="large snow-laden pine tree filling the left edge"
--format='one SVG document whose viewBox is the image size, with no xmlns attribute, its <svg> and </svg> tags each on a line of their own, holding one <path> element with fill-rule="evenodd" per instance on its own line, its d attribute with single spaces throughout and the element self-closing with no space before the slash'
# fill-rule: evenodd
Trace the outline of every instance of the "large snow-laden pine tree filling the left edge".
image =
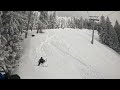
<svg viewBox="0 0 120 90">
<path fill-rule="evenodd" d="M 0 14 L 0 63 L 8 71 L 16 66 L 16 61 L 21 56 L 21 22 L 25 15 L 20 11 L 1 11 Z M 2 59 L 2 61 L 1 61 Z"/>
</svg>

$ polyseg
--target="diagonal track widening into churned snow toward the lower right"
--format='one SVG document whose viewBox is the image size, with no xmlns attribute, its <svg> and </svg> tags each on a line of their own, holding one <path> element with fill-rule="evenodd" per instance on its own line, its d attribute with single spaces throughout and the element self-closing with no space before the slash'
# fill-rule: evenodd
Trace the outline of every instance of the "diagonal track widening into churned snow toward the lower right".
<svg viewBox="0 0 120 90">
<path fill-rule="evenodd" d="M 53 44 L 51 44 L 53 45 Z M 79 74 L 82 76 L 82 78 L 91 78 L 91 79 L 102 79 L 103 76 L 101 75 L 101 73 L 97 72 L 96 70 L 94 70 L 94 68 L 88 66 L 87 64 L 83 63 L 82 58 L 78 59 L 75 56 L 71 55 L 70 53 L 67 53 L 63 50 L 61 50 L 60 48 L 58 48 L 57 46 L 53 45 L 54 48 L 58 49 L 59 51 L 61 51 L 62 53 L 66 54 L 66 56 L 70 56 L 71 58 L 73 58 L 71 60 L 71 62 L 74 64 L 76 70 L 79 72 Z M 80 61 L 82 60 L 82 61 Z"/>
</svg>

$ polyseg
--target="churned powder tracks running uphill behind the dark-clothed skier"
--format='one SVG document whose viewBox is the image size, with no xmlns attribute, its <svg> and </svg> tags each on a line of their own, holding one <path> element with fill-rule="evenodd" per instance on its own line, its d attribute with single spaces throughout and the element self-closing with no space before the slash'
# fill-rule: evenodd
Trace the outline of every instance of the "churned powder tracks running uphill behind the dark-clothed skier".
<svg viewBox="0 0 120 90">
<path fill-rule="evenodd" d="M 47 32 L 46 32 L 47 33 Z M 42 42 L 40 43 L 37 43 L 39 44 L 38 46 L 34 46 L 32 48 L 32 50 L 30 51 L 30 56 L 32 56 L 32 63 L 33 63 L 33 66 L 37 67 L 37 64 L 38 64 L 38 60 L 40 59 L 40 57 L 43 57 L 46 62 L 47 62 L 47 52 L 49 51 L 49 49 L 47 48 L 48 47 L 48 41 L 50 38 L 54 37 L 54 34 L 52 36 L 50 36 L 48 33 L 46 34 L 46 39 L 43 40 Z M 37 39 L 37 38 L 36 38 Z M 46 47 L 47 45 L 47 47 Z M 46 50 L 47 49 L 47 50 Z M 50 52 L 51 53 L 51 52 Z M 45 63 L 46 63 L 45 62 Z M 48 64 L 45 65 L 45 67 L 47 67 Z M 44 67 L 44 66 L 43 66 Z"/>
</svg>

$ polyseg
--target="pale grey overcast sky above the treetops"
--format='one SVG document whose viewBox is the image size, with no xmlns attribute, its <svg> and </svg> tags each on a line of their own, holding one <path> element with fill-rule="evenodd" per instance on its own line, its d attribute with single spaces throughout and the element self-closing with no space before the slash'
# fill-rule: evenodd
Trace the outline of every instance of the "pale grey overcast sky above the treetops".
<svg viewBox="0 0 120 90">
<path fill-rule="evenodd" d="M 106 17 L 108 15 L 113 25 L 115 23 L 115 20 L 118 20 L 120 23 L 120 11 L 88 11 L 88 13 L 87 11 L 57 11 L 58 16 L 76 16 L 76 17 L 82 16 L 83 18 L 88 18 L 88 14 L 89 16 L 104 15 Z"/>
</svg>

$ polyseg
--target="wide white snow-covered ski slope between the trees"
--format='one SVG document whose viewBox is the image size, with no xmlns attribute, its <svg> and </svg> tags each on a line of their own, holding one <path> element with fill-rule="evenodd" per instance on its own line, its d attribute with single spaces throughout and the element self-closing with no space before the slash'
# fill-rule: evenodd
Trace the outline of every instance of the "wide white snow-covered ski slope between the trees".
<svg viewBox="0 0 120 90">
<path fill-rule="evenodd" d="M 104 79 L 120 78 L 120 55 L 99 43 L 90 30 L 51 29 L 24 40 L 24 54 L 15 71 L 22 79 Z M 35 34 L 35 37 L 31 37 Z M 37 66 L 40 57 L 46 60 Z"/>
</svg>

